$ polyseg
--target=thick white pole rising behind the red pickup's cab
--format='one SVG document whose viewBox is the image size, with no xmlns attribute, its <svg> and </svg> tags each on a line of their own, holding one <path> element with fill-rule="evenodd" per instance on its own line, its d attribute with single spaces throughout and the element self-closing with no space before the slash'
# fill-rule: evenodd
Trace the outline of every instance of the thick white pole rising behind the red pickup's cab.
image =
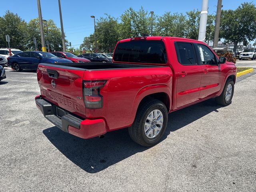
<svg viewBox="0 0 256 192">
<path fill-rule="evenodd" d="M 199 33 L 198 33 L 198 40 L 202 42 L 205 41 L 207 14 L 208 14 L 208 0 L 203 0 L 202 11 L 200 16 Z"/>
</svg>

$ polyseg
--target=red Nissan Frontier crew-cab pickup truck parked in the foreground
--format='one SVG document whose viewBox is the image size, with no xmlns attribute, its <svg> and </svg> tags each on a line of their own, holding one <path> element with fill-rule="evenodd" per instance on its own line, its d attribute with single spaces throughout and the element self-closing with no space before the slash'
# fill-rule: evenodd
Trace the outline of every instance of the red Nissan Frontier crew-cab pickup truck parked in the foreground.
<svg viewBox="0 0 256 192">
<path fill-rule="evenodd" d="M 230 104 L 236 66 L 200 41 L 154 36 L 120 40 L 112 63 L 40 63 L 37 78 L 36 105 L 61 130 L 92 138 L 128 128 L 152 146 L 168 113 L 213 97 Z"/>
</svg>

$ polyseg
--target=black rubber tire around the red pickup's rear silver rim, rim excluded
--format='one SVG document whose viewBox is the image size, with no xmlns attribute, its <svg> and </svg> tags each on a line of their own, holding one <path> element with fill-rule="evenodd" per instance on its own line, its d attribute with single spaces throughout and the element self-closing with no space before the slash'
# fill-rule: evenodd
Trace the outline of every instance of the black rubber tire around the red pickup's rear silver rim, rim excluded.
<svg viewBox="0 0 256 192">
<path fill-rule="evenodd" d="M 144 132 L 145 122 L 148 115 L 153 110 L 160 110 L 163 115 L 163 124 L 160 132 L 154 138 L 148 138 Z M 144 147 L 149 147 L 157 144 L 162 138 L 168 122 L 168 111 L 166 106 L 160 100 L 146 100 L 140 104 L 136 113 L 135 120 L 131 127 L 128 128 L 128 132 L 134 142 Z"/>
</svg>

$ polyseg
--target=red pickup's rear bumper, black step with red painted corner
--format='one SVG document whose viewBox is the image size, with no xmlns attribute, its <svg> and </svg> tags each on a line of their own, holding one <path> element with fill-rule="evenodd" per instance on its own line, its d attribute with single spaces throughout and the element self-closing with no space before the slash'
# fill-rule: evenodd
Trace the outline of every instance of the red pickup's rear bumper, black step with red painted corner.
<svg viewBox="0 0 256 192">
<path fill-rule="evenodd" d="M 58 118 L 56 105 L 42 99 L 40 95 L 36 96 L 35 100 L 36 106 L 40 109 L 42 114 L 44 114 L 44 117 L 64 132 L 84 139 L 93 138 L 106 133 L 106 123 L 103 119 L 83 120 L 66 110 L 66 115 Z"/>
</svg>

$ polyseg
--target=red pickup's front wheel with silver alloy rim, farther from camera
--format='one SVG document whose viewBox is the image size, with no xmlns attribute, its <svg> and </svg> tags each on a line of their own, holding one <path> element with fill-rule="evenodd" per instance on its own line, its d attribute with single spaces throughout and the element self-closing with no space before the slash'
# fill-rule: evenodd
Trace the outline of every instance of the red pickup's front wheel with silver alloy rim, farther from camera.
<svg viewBox="0 0 256 192">
<path fill-rule="evenodd" d="M 233 94 L 234 94 L 234 81 L 231 79 L 228 79 L 221 95 L 216 97 L 215 101 L 220 105 L 224 105 L 224 106 L 229 105 L 232 102 Z"/>
</svg>

